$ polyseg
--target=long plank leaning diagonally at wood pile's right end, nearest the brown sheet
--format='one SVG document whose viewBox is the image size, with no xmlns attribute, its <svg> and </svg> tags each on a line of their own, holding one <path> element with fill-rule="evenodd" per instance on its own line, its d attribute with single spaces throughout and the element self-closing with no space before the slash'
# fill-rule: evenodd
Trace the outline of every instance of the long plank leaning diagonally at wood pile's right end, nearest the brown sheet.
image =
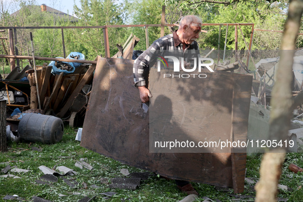
<svg viewBox="0 0 303 202">
<path fill-rule="evenodd" d="M 101 58 L 100 56 L 97 56 L 95 60 L 99 60 L 100 58 Z M 68 98 L 64 107 L 57 114 L 58 117 L 63 117 L 66 114 L 66 112 L 68 111 L 68 109 L 72 105 L 72 103 L 73 103 L 75 97 L 77 96 L 77 94 L 82 90 L 84 85 L 86 85 L 90 81 L 90 79 L 92 78 L 93 72 L 95 71 L 95 69 L 96 69 L 96 65 L 92 64 L 90 66 L 90 68 L 87 70 L 87 72 L 85 73 L 85 75 L 83 76 L 83 78 L 81 79 L 80 83 L 77 85 L 75 90 L 72 92 L 72 94 Z"/>
</svg>

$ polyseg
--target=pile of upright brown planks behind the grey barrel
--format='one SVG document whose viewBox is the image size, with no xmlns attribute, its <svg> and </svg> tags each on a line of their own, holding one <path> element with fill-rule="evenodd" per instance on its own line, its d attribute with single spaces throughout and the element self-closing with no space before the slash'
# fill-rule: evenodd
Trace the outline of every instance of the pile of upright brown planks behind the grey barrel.
<svg viewBox="0 0 303 202">
<path fill-rule="evenodd" d="M 72 112 L 84 111 L 85 114 L 90 92 L 83 92 L 83 88 L 92 82 L 95 67 L 95 64 L 81 65 L 73 73 L 66 75 L 63 72 L 53 75 L 52 66 L 47 64 L 37 67 L 38 92 L 34 70 L 28 70 L 31 86 L 30 110 L 60 118 L 69 117 Z M 39 108 L 38 97 L 41 108 Z"/>
</svg>

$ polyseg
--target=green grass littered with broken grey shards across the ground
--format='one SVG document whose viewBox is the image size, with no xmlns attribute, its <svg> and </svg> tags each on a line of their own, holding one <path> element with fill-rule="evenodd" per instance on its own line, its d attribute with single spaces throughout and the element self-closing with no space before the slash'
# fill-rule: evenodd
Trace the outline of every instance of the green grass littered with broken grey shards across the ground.
<svg viewBox="0 0 303 202">
<path fill-rule="evenodd" d="M 21 169 L 31 170 L 28 173 L 13 173 L 20 179 L 11 177 L 0 177 L 0 201 L 6 195 L 18 195 L 26 200 L 31 200 L 33 196 L 39 196 L 51 201 L 78 201 L 84 196 L 92 197 L 96 195 L 94 201 L 179 201 L 186 194 L 179 192 L 173 180 L 159 178 L 157 175 L 151 175 L 148 180 L 136 190 L 119 190 L 110 189 L 108 185 L 100 183 L 100 178 L 106 178 L 110 181 L 113 177 L 124 177 L 120 173 L 120 169 L 126 168 L 132 172 L 146 172 L 144 170 L 127 166 L 119 161 L 100 155 L 93 151 L 80 147 L 80 142 L 74 140 L 76 132 L 73 128 L 66 127 L 63 139 L 54 145 L 45 145 L 42 143 L 10 143 L 8 151 L 0 153 L 0 170 L 7 165 L 16 166 Z M 41 147 L 42 151 L 33 151 L 31 147 Z M 252 155 L 247 157 L 246 176 L 251 178 L 259 178 L 259 166 L 262 155 Z M 79 169 L 74 166 L 76 160 L 86 158 L 86 162 L 93 166 L 93 170 Z M 303 157 L 300 154 L 287 154 L 285 164 L 280 180 L 281 185 L 289 186 L 292 191 L 280 191 L 278 197 L 288 198 L 289 201 L 301 201 L 303 199 L 302 189 L 298 190 L 303 180 L 302 173 L 292 173 L 288 170 L 288 165 L 294 163 L 303 167 Z M 38 185 L 35 183 L 44 175 L 39 166 L 47 166 L 49 168 L 57 166 L 66 166 L 77 172 L 75 176 L 67 176 L 66 178 L 75 178 L 78 186 L 75 189 L 70 188 L 62 178 L 53 185 Z M 151 173 L 152 174 L 152 173 Z M 3 175 L 3 173 L 0 173 Z M 88 189 L 83 189 L 82 183 L 88 185 Z M 201 197 L 208 196 L 215 200 L 233 201 L 235 195 L 233 190 L 227 192 L 218 191 L 214 186 L 192 183 Z M 92 188 L 91 185 L 97 185 L 99 188 Z M 110 199 L 104 199 L 100 193 L 116 192 L 117 194 Z M 73 193 L 79 193 L 74 195 Z M 59 194 L 67 196 L 59 197 Z M 245 184 L 245 192 L 237 195 L 255 195 L 253 185 Z"/>
</svg>

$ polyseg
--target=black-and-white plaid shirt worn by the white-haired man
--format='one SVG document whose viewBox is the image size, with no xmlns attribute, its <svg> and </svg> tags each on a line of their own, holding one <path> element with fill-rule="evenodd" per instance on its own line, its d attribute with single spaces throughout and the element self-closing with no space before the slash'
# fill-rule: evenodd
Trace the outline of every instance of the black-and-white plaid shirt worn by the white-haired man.
<svg viewBox="0 0 303 202">
<path fill-rule="evenodd" d="M 146 77 L 151 64 L 151 58 L 153 56 L 153 51 L 155 50 L 199 50 L 197 42 L 193 42 L 191 45 L 184 45 L 180 42 L 179 37 L 174 31 L 172 34 L 158 38 L 154 43 L 144 51 L 139 57 L 134 61 L 133 74 L 134 74 L 134 84 L 136 87 L 146 85 Z"/>
</svg>

